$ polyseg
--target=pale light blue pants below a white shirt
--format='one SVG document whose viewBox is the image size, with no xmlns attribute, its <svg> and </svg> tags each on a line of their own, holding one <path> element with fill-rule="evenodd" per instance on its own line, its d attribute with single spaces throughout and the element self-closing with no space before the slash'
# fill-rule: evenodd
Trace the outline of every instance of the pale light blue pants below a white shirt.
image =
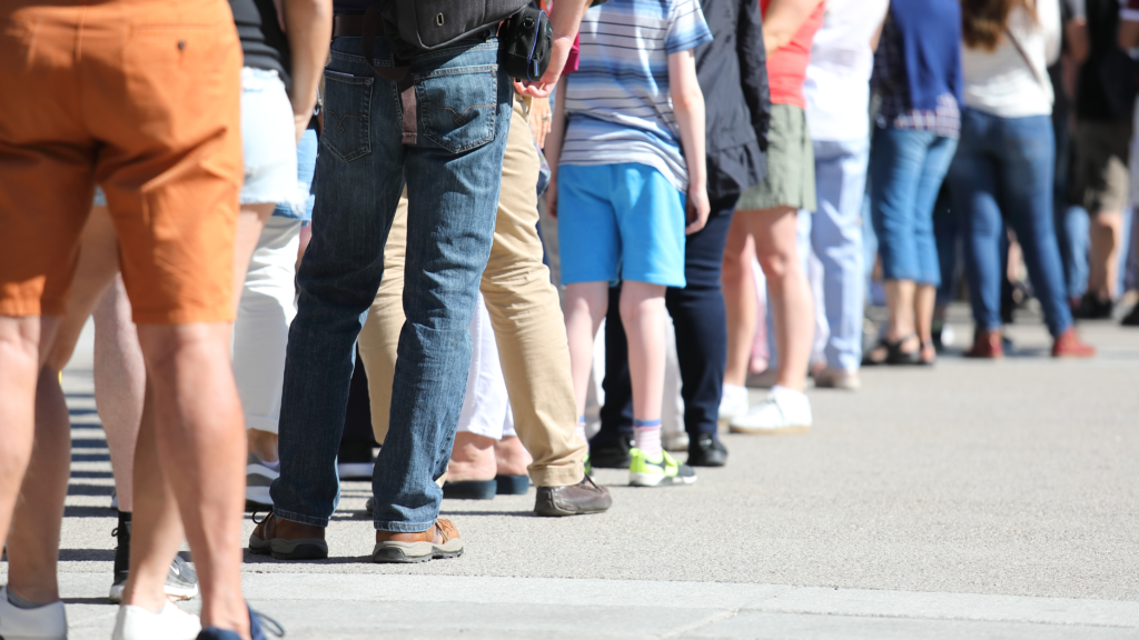
<svg viewBox="0 0 1139 640">
<path fill-rule="evenodd" d="M 819 208 L 810 219 L 811 247 L 822 263 L 822 301 L 830 336 L 827 366 L 858 369 L 862 362 L 862 196 L 869 140 L 814 141 Z"/>
</svg>

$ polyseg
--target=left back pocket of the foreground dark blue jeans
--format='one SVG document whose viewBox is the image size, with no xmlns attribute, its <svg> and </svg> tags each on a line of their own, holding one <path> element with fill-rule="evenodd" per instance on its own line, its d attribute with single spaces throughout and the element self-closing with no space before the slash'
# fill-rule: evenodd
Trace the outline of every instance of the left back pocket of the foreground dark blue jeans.
<svg viewBox="0 0 1139 640">
<path fill-rule="evenodd" d="M 325 69 L 325 147 L 344 162 L 371 153 L 374 77 Z"/>
</svg>

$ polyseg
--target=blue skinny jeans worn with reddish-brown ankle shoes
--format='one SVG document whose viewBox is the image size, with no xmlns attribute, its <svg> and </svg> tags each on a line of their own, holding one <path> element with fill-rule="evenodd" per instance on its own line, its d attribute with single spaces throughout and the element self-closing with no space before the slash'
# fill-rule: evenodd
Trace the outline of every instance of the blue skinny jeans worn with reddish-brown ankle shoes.
<svg viewBox="0 0 1139 640">
<path fill-rule="evenodd" d="M 965 265 L 977 329 L 1001 326 L 1001 238 L 1016 231 L 1029 278 L 1057 336 L 1072 326 L 1064 268 L 1052 227 L 1055 147 L 1048 116 L 961 114 L 961 143 L 949 170 L 965 238 Z"/>
</svg>

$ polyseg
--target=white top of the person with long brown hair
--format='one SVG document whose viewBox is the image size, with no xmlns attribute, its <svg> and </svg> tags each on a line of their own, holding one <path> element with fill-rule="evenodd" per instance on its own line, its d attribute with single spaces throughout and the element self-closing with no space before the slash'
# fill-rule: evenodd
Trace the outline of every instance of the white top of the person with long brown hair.
<svg viewBox="0 0 1139 640">
<path fill-rule="evenodd" d="M 1036 0 L 1035 20 L 1023 7 L 1013 9 L 1008 31 L 1032 66 L 1007 36 L 995 51 L 962 47 L 965 106 L 999 117 L 1051 115 L 1055 96 L 1048 65 L 1060 56 L 1059 0 Z"/>
</svg>

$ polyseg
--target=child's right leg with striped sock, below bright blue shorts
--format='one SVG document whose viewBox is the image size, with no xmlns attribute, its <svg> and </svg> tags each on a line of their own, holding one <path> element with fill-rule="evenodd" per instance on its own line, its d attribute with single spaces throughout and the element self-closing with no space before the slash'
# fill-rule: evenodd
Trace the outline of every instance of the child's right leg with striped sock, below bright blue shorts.
<svg viewBox="0 0 1139 640">
<path fill-rule="evenodd" d="M 661 405 L 664 401 L 663 285 L 625 281 L 621 321 L 629 337 L 629 375 L 633 386 L 633 438 L 648 458 L 661 454 Z"/>
</svg>

